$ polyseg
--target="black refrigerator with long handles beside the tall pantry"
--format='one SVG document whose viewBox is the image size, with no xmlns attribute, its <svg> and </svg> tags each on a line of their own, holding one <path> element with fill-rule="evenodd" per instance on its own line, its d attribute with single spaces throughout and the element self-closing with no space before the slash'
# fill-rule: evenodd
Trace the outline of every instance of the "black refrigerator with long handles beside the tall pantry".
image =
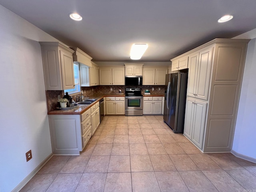
<svg viewBox="0 0 256 192">
<path fill-rule="evenodd" d="M 183 133 L 186 108 L 188 71 L 166 74 L 164 122 L 174 133 Z"/>
</svg>

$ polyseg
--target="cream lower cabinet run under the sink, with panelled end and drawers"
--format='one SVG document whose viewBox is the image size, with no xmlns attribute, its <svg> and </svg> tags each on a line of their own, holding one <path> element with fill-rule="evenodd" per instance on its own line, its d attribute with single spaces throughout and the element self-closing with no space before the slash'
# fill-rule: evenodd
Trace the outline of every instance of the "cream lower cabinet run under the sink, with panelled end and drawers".
<svg viewBox="0 0 256 192">
<path fill-rule="evenodd" d="M 100 124 L 99 102 L 81 115 L 48 115 L 54 154 L 79 155 Z"/>
</svg>

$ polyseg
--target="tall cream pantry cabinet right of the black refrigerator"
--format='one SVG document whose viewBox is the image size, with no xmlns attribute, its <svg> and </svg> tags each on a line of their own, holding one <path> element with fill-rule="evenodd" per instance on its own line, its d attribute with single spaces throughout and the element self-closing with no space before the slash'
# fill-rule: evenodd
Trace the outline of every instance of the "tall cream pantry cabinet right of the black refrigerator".
<svg viewBox="0 0 256 192">
<path fill-rule="evenodd" d="M 215 39 L 177 57 L 188 56 L 184 135 L 202 152 L 231 150 L 247 43 Z"/>
</svg>

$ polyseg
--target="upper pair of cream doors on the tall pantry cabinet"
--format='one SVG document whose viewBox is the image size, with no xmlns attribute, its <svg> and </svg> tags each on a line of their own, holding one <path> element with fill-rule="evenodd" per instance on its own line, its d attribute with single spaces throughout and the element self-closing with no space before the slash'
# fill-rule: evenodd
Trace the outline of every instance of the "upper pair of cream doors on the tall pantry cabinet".
<svg viewBox="0 0 256 192">
<path fill-rule="evenodd" d="M 188 57 L 187 96 L 208 100 L 212 47 Z"/>
</svg>

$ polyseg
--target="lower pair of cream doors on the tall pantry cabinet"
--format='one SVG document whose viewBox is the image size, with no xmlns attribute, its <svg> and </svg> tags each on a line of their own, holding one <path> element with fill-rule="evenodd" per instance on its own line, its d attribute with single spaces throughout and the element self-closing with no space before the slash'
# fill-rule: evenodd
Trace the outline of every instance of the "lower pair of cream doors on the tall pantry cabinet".
<svg viewBox="0 0 256 192">
<path fill-rule="evenodd" d="M 186 100 L 184 134 L 202 149 L 207 103 L 192 98 Z"/>
</svg>

